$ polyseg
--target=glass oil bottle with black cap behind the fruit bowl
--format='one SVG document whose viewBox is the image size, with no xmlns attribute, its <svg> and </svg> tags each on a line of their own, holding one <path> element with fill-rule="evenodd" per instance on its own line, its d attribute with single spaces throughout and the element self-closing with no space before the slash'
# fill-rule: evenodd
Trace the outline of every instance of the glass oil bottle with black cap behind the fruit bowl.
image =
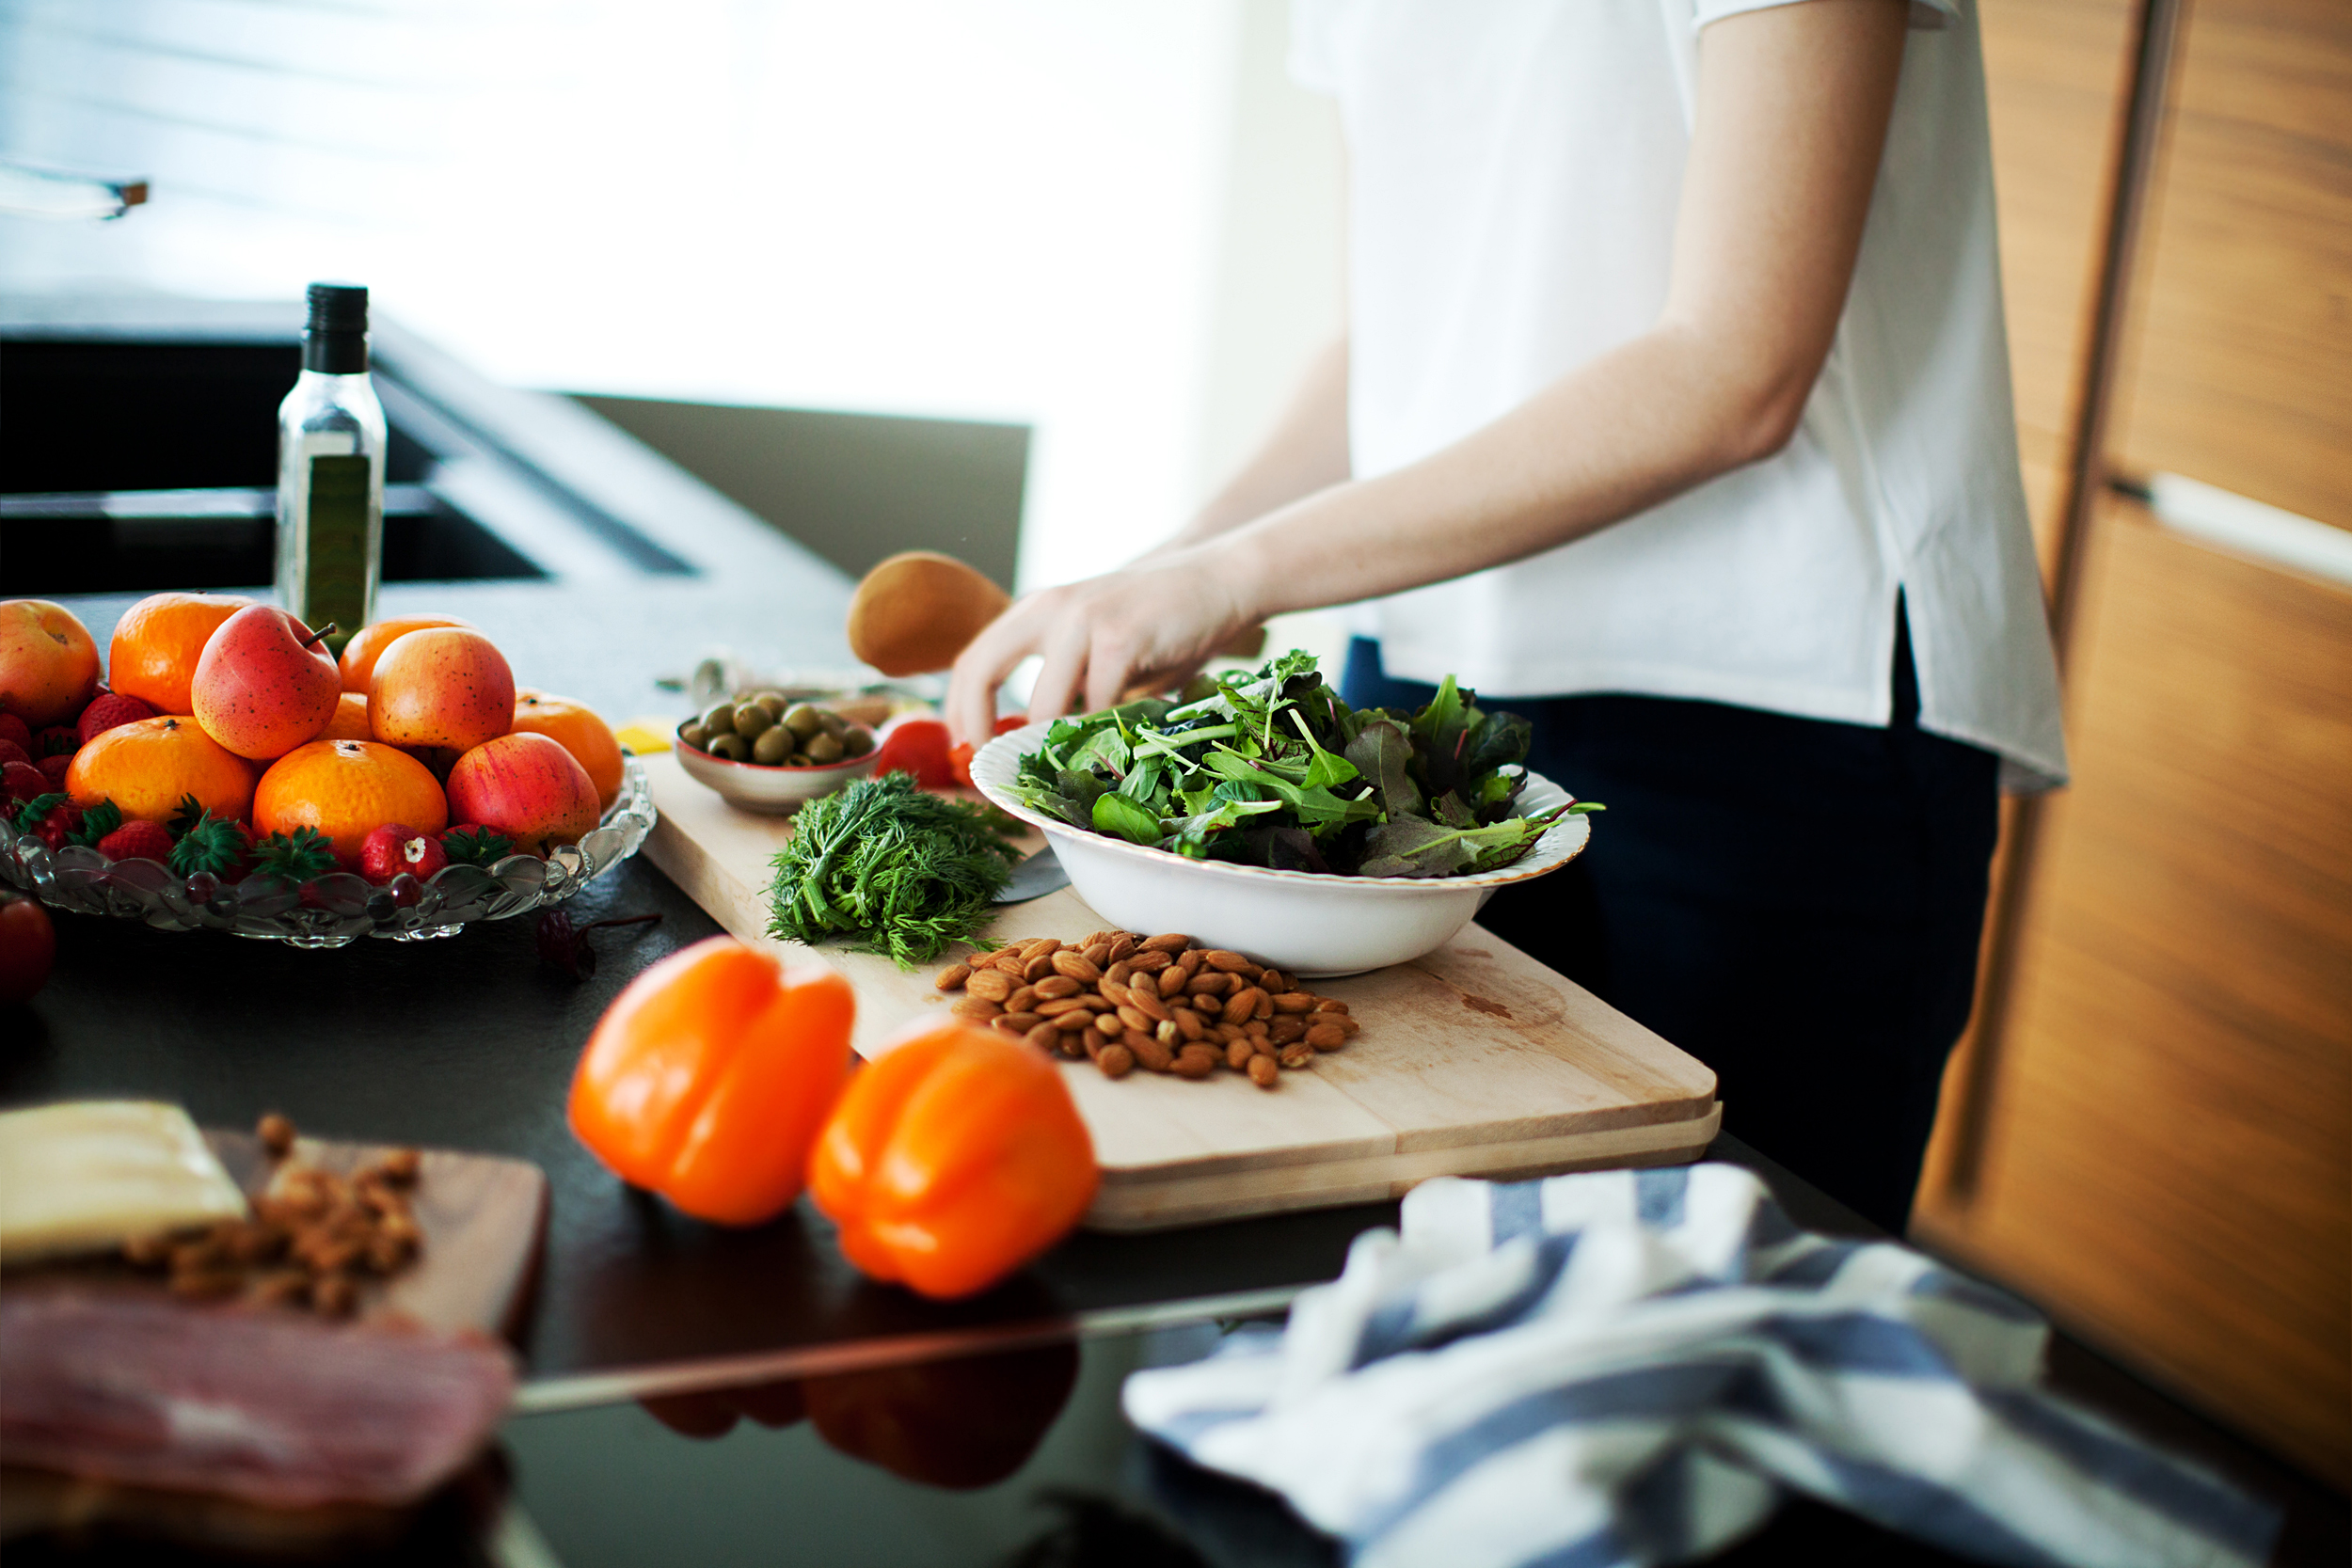
<svg viewBox="0 0 2352 1568">
<path fill-rule="evenodd" d="M 383 571 L 383 404 L 367 378 L 367 289 L 310 284 L 301 378 L 278 404 L 278 602 L 341 649 Z"/>
</svg>

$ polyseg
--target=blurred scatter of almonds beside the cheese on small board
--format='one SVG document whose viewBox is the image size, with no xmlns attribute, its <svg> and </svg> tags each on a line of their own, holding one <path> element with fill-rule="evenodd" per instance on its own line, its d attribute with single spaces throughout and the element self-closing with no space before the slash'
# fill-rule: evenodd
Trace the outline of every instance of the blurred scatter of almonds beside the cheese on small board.
<svg viewBox="0 0 2352 1568">
<path fill-rule="evenodd" d="M 346 1178 L 287 1159 L 294 1124 L 275 1112 L 261 1119 L 256 1135 L 280 1164 L 249 1220 L 132 1237 L 122 1255 L 134 1267 L 162 1269 L 172 1293 L 188 1300 L 242 1295 L 350 1316 L 360 1305 L 360 1276 L 397 1274 L 423 1251 L 407 1197 L 421 1164 L 416 1150 L 393 1150 Z"/>
</svg>

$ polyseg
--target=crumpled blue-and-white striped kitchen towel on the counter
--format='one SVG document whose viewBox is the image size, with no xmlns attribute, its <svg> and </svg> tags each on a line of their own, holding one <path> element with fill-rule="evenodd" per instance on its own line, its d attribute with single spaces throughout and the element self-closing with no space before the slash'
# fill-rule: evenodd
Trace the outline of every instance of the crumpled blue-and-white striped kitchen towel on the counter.
<svg viewBox="0 0 2352 1568">
<path fill-rule="evenodd" d="M 1127 1415 L 1357 1568 L 1679 1563 L 1785 1490 L 1987 1563 L 2260 1563 L 2277 1516 L 2037 1387 L 2049 1326 L 1748 1171 L 1442 1178 Z"/>
</svg>

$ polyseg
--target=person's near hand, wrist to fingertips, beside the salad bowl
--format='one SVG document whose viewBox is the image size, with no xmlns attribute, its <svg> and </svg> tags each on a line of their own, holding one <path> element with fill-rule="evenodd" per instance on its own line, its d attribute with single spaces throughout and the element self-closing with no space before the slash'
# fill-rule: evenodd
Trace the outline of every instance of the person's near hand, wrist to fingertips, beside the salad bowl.
<svg viewBox="0 0 2352 1568">
<path fill-rule="evenodd" d="M 1108 708 L 1143 682 L 1174 684 L 1200 670 L 1244 625 L 1263 618 L 1237 550 L 1214 538 L 1082 583 L 1014 602 L 955 658 L 948 729 L 985 745 L 997 686 L 1030 654 L 1044 656 L 1030 719 Z"/>
</svg>

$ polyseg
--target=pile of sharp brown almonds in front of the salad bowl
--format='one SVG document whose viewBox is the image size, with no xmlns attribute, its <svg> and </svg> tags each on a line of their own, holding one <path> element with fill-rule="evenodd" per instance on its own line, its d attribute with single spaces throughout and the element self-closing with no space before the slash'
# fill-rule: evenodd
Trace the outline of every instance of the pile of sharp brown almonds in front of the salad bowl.
<svg viewBox="0 0 2352 1568">
<path fill-rule="evenodd" d="M 1204 1079 L 1228 1067 L 1272 1088 L 1284 1067 L 1310 1067 L 1317 1051 L 1338 1051 L 1357 1030 L 1345 1001 L 1176 933 L 1040 936 L 950 964 L 936 985 L 964 992 L 957 1016 L 1040 1051 L 1084 1056 L 1110 1079 L 1136 1067 Z"/>
</svg>

